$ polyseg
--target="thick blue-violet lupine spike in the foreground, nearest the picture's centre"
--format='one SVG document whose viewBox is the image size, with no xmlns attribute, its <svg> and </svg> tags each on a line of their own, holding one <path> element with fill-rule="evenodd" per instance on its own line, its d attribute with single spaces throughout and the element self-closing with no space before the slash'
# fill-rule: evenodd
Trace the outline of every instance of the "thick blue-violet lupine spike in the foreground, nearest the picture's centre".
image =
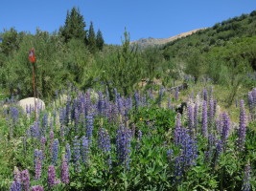
<svg viewBox="0 0 256 191">
<path fill-rule="evenodd" d="M 121 126 L 117 130 L 116 137 L 116 148 L 117 148 L 117 159 L 119 164 L 123 164 L 126 168 L 129 163 L 129 153 L 130 153 L 130 141 L 131 141 L 131 132 L 128 128 Z"/>
</svg>

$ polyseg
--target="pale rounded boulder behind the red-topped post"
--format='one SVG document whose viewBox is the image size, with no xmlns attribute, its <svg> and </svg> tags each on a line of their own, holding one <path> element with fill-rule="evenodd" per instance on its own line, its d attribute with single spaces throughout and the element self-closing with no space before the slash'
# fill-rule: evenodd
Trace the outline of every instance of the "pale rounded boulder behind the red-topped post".
<svg viewBox="0 0 256 191">
<path fill-rule="evenodd" d="M 27 111 L 27 108 L 28 109 L 32 108 L 34 110 L 35 104 L 36 104 L 37 110 L 44 110 L 45 109 L 45 103 L 43 102 L 43 100 L 41 100 L 39 98 L 28 97 L 28 98 L 21 99 L 17 102 L 17 105 L 22 107 L 24 112 Z"/>
</svg>

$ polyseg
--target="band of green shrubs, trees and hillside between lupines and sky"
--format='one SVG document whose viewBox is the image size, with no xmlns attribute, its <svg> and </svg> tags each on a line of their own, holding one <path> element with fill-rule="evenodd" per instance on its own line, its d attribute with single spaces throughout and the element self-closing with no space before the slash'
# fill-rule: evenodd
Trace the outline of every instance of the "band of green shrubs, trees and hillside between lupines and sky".
<svg viewBox="0 0 256 191">
<path fill-rule="evenodd" d="M 104 83 L 128 95 L 141 79 L 157 79 L 167 87 L 190 75 L 214 84 L 252 88 L 256 69 L 256 11 L 231 18 L 206 30 L 158 48 L 139 50 L 125 30 L 122 45 L 106 45 L 104 34 L 85 22 L 78 8 L 67 11 L 58 32 L 1 33 L 1 86 L 11 95 L 32 96 L 27 53 L 35 47 L 37 94 L 51 97 L 66 84 L 80 89 Z M 88 25 L 89 23 L 89 25 Z"/>
</svg>

